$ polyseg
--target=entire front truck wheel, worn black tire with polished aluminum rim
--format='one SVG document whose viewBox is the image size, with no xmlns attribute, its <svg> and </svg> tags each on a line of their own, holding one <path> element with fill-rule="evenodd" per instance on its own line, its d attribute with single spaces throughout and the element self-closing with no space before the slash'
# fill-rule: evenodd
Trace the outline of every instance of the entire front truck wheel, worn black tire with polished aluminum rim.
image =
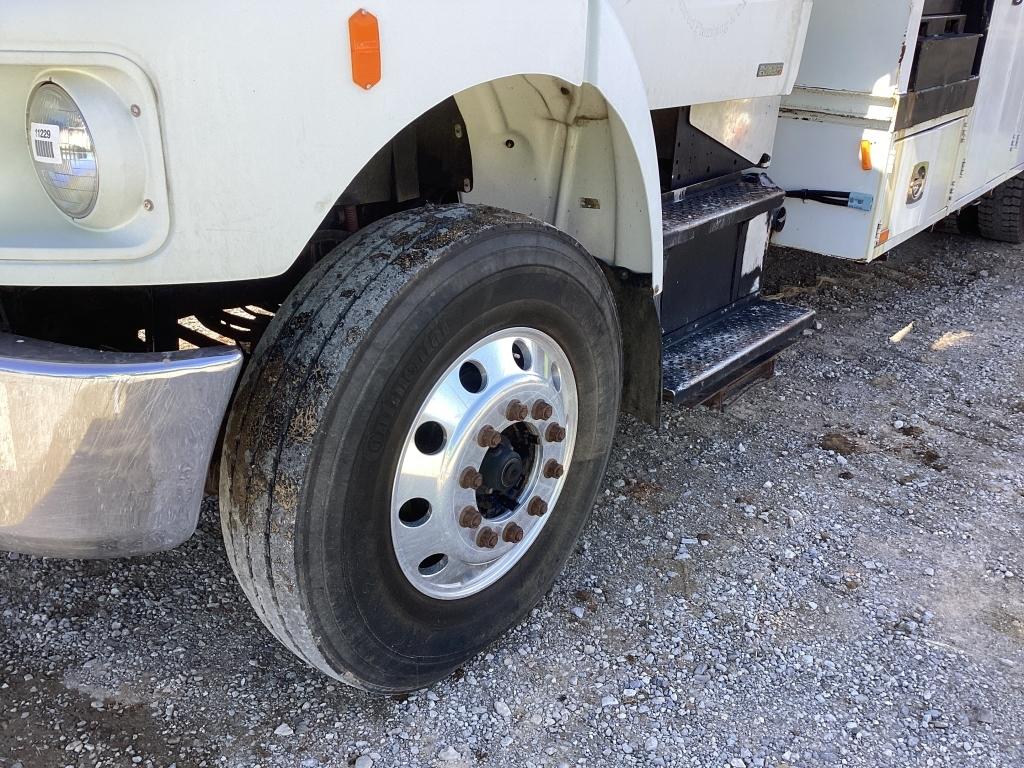
<svg viewBox="0 0 1024 768">
<path fill-rule="evenodd" d="M 281 308 L 228 418 L 221 523 L 256 612 L 356 687 L 444 678 L 572 552 L 621 381 L 608 286 L 565 234 L 466 205 L 360 230 Z"/>
</svg>

